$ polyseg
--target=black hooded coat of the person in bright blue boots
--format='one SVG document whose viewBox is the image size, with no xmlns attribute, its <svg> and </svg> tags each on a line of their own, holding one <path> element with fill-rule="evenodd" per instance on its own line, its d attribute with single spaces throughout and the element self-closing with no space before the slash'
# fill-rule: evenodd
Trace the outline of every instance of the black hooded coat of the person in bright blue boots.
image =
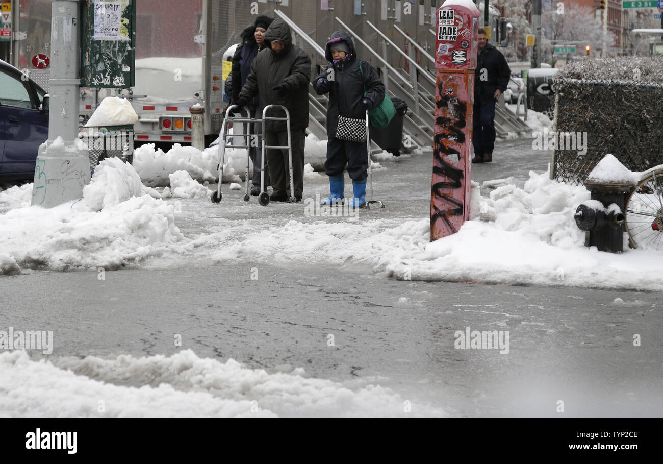
<svg viewBox="0 0 663 464">
<path fill-rule="evenodd" d="M 335 42 L 345 41 L 350 52 L 336 64 L 331 58 L 331 48 Z M 338 125 L 339 112 L 341 116 L 365 119 L 366 113 L 361 104 L 364 98 L 364 90 L 367 91 L 366 98 L 371 100 L 371 108 L 379 106 L 385 99 L 385 84 L 380 80 L 377 71 L 365 61 L 357 59 L 355 44 L 352 37 L 343 29 L 334 31 L 330 41 L 325 46 L 325 57 L 330 62 L 322 74 L 313 79 L 313 87 L 318 95 L 330 92 L 330 100 L 327 108 L 327 135 L 335 137 Z M 361 62 L 361 70 L 359 63 Z M 324 84 L 322 79 L 328 80 Z"/>
</svg>

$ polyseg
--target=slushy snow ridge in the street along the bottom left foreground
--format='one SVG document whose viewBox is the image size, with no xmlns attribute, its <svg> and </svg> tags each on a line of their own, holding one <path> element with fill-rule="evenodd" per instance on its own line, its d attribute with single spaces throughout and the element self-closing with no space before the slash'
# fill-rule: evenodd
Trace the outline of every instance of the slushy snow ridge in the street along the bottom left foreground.
<svg viewBox="0 0 663 464">
<path fill-rule="evenodd" d="M 447 416 L 429 408 L 406 414 L 403 399 L 381 386 L 306 378 L 302 368 L 268 374 L 232 359 L 198 358 L 192 350 L 54 364 L 32 361 L 25 351 L 0 353 L 0 390 L 9 392 L 0 396 L 0 417 Z M 132 385 L 124 386 L 128 379 Z"/>
</svg>

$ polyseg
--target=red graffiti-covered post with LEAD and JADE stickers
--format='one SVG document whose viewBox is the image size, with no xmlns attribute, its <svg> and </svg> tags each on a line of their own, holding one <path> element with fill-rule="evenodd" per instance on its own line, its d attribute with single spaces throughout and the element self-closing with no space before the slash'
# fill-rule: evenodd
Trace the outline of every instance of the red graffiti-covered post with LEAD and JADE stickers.
<svg viewBox="0 0 663 464">
<path fill-rule="evenodd" d="M 471 0 L 447 0 L 436 12 L 431 242 L 455 234 L 469 219 L 479 15 Z"/>
</svg>

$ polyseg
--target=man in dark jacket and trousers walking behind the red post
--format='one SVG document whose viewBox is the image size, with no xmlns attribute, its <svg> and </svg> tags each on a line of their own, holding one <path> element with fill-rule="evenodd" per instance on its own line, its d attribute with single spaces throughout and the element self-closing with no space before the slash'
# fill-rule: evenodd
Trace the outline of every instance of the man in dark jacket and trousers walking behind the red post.
<svg viewBox="0 0 663 464">
<path fill-rule="evenodd" d="M 504 55 L 486 41 L 483 29 L 479 29 L 479 56 L 474 73 L 472 163 L 490 163 L 493 161 L 495 147 L 495 102 L 507 90 L 511 69 Z"/>
</svg>

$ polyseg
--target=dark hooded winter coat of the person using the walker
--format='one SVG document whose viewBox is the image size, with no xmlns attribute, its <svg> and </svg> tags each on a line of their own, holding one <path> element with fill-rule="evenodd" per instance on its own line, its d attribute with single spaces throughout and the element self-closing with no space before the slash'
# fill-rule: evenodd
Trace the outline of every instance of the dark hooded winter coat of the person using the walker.
<svg viewBox="0 0 663 464">
<path fill-rule="evenodd" d="M 271 40 L 283 40 L 285 48 L 280 53 L 271 49 Z M 258 111 L 265 106 L 278 104 L 288 108 L 290 112 L 290 128 L 305 129 L 308 127 L 308 84 L 311 79 L 311 58 L 306 52 L 292 44 L 290 27 L 281 19 L 275 19 L 265 33 L 265 44 L 251 64 L 251 72 L 247 77 L 239 96 L 251 100 L 260 95 Z M 286 84 L 286 94 L 278 95 L 274 86 Z M 282 110 L 272 110 L 267 116 L 284 117 Z M 269 131 L 286 130 L 286 121 L 267 121 Z"/>
</svg>

